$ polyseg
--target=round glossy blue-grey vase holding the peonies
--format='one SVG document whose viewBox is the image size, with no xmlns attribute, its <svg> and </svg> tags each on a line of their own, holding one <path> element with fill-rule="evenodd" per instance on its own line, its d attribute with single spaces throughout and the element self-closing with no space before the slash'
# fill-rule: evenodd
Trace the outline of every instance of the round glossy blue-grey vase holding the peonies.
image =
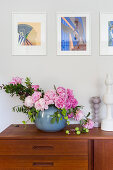
<svg viewBox="0 0 113 170">
<path fill-rule="evenodd" d="M 58 109 L 54 106 L 49 106 L 47 110 L 40 111 L 38 118 L 35 120 L 36 127 L 45 132 L 57 132 L 62 130 L 66 126 L 66 120 L 62 118 L 59 122 L 51 123 L 51 115 L 54 114 Z"/>
</svg>

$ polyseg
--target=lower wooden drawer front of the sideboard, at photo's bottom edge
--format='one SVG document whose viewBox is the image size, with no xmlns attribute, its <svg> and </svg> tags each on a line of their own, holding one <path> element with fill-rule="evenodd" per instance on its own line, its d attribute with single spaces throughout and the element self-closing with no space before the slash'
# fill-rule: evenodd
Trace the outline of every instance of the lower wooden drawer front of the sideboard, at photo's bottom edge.
<svg viewBox="0 0 113 170">
<path fill-rule="evenodd" d="M 88 156 L 0 156 L 0 170 L 88 170 Z"/>
</svg>

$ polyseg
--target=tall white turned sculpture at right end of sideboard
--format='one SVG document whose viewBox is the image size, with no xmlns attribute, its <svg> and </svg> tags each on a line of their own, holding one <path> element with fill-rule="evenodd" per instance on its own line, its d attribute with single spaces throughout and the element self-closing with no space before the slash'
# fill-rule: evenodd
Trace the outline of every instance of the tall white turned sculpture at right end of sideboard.
<svg viewBox="0 0 113 170">
<path fill-rule="evenodd" d="M 112 118 L 112 105 L 113 105 L 113 92 L 112 85 L 113 79 L 110 74 L 107 75 L 105 84 L 107 86 L 106 93 L 103 96 L 103 102 L 106 104 L 107 113 L 106 118 L 102 120 L 101 129 L 105 131 L 113 131 L 113 118 Z"/>
</svg>

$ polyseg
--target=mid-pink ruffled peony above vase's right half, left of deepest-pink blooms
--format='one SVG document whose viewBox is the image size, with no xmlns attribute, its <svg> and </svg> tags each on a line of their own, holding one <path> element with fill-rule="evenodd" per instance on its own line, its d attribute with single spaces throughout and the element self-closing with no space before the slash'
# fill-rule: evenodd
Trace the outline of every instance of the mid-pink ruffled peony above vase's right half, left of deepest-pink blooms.
<svg viewBox="0 0 113 170">
<path fill-rule="evenodd" d="M 55 98 L 55 106 L 59 109 L 65 108 L 65 98 L 58 96 Z"/>
</svg>

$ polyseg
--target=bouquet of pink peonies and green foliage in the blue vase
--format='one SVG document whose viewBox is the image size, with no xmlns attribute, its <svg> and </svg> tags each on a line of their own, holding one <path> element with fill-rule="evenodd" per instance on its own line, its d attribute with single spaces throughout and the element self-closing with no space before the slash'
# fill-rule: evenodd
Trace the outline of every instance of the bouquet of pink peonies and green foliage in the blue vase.
<svg viewBox="0 0 113 170">
<path fill-rule="evenodd" d="M 31 122 L 35 122 L 40 111 L 44 111 L 52 105 L 58 111 L 51 116 L 51 119 L 56 117 L 58 121 L 59 118 L 63 117 L 67 120 L 67 124 L 69 124 L 69 119 L 74 119 L 80 121 L 84 129 L 92 129 L 94 126 L 94 122 L 88 118 L 90 114 L 84 115 L 82 106 L 78 105 L 71 89 L 54 86 L 53 90 L 44 92 L 39 85 L 33 85 L 28 77 L 25 82 L 22 78 L 14 77 L 10 83 L 2 85 L 1 88 L 11 96 L 16 95 L 23 101 L 23 105 L 13 107 L 13 111 L 27 114 Z M 23 121 L 23 123 L 26 122 Z"/>
</svg>

